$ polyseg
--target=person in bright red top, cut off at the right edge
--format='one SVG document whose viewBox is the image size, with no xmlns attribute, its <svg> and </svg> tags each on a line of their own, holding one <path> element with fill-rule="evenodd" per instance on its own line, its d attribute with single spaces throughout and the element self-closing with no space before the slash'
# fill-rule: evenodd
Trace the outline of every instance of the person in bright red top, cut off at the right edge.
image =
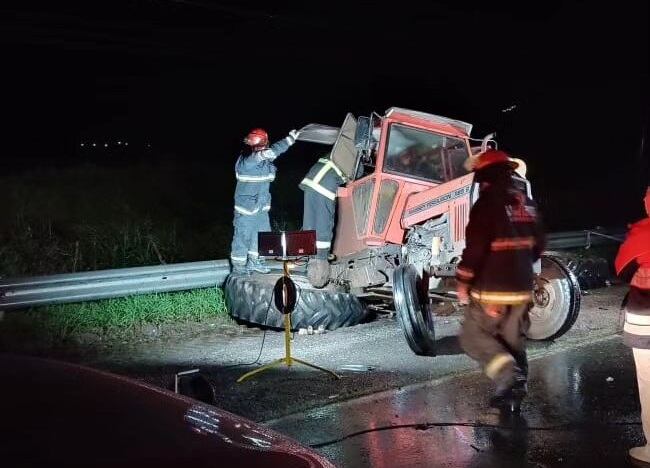
<svg viewBox="0 0 650 468">
<path fill-rule="evenodd" d="M 650 187 L 646 189 L 644 204 L 648 217 L 630 226 L 614 265 L 619 276 L 631 278 L 623 304 L 623 342 L 634 354 L 646 438 L 646 445 L 630 449 L 630 456 L 650 463 Z"/>
</svg>

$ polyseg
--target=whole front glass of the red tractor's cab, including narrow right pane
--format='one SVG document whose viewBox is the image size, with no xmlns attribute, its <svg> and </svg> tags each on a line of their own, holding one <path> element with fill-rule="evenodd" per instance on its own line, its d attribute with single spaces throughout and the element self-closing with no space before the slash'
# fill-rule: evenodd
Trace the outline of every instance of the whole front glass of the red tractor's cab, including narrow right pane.
<svg viewBox="0 0 650 468">
<path fill-rule="evenodd" d="M 430 182 L 444 182 L 466 174 L 467 145 L 460 138 L 392 124 L 384 171 Z"/>
</svg>

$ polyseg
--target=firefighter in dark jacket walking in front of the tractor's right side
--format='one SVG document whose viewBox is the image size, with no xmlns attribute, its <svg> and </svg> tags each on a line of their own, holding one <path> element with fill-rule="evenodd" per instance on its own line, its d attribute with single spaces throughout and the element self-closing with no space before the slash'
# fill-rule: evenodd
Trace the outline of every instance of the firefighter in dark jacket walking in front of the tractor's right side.
<svg viewBox="0 0 650 468">
<path fill-rule="evenodd" d="M 480 195 L 456 270 L 458 298 L 469 303 L 459 339 L 496 384 L 491 406 L 516 412 L 527 391 L 533 263 L 545 236 L 535 203 L 513 185 L 515 161 L 491 149 L 472 158 L 469 168 Z"/>
</svg>

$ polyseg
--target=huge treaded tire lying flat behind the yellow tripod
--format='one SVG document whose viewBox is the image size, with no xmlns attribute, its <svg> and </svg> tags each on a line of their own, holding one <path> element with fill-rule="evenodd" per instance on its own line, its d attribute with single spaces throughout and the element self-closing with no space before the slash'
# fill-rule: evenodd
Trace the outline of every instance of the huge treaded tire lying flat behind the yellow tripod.
<svg viewBox="0 0 650 468">
<path fill-rule="evenodd" d="M 284 316 L 272 304 L 273 286 L 281 275 L 238 276 L 226 280 L 226 304 L 233 317 L 260 326 L 284 327 Z M 303 276 L 292 275 L 298 289 L 298 301 L 291 314 L 291 328 L 327 330 L 349 327 L 363 322 L 369 312 L 363 303 L 348 293 L 333 289 L 316 289 Z"/>
</svg>

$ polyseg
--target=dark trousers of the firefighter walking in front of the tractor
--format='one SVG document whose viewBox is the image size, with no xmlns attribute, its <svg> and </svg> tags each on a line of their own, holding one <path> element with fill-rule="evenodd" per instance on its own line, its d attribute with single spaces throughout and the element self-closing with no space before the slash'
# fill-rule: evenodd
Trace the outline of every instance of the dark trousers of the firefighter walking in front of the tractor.
<svg viewBox="0 0 650 468">
<path fill-rule="evenodd" d="M 532 304 L 486 305 L 472 300 L 465 311 L 459 340 L 485 374 L 507 389 L 515 379 L 526 379 L 526 332 Z"/>
</svg>

